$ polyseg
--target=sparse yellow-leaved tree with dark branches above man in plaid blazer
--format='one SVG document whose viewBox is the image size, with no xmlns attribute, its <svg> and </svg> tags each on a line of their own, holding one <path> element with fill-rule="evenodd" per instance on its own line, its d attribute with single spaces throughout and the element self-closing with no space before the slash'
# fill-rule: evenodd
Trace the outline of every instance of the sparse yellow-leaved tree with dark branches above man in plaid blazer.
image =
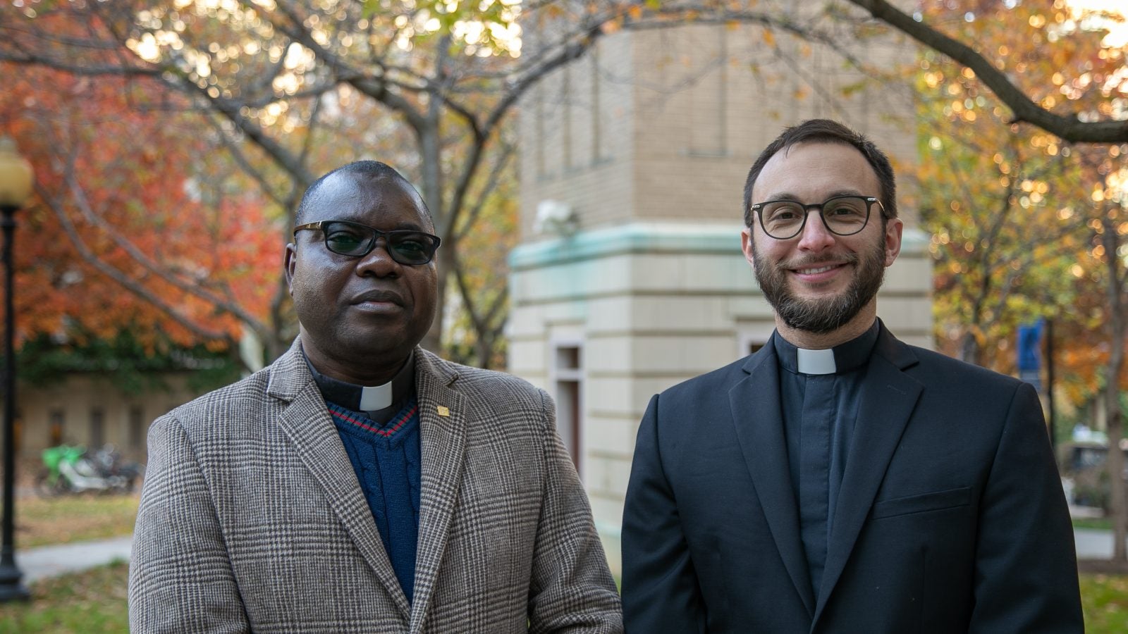
<svg viewBox="0 0 1128 634">
<path fill-rule="evenodd" d="M 180 97 L 182 112 L 223 137 L 232 160 L 285 212 L 316 174 L 390 156 L 418 184 L 443 238 L 444 298 L 451 266 L 468 259 L 460 245 L 474 230 L 473 210 L 508 160 L 491 152 L 508 114 L 601 33 L 598 10 L 548 5 L 569 28 L 519 56 L 520 8 L 502 1 L 43 2 L 6 10 L 0 60 L 161 85 Z M 54 37 L 76 25 L 81 33 Z M 491 283 L 502 290 L 478 293 L 486 305 L 476 306 L 478 294 L 461 298 L 483 341 L 495 341 L 492 307 L 504 293 L 504 279 Z"/>
</svg>

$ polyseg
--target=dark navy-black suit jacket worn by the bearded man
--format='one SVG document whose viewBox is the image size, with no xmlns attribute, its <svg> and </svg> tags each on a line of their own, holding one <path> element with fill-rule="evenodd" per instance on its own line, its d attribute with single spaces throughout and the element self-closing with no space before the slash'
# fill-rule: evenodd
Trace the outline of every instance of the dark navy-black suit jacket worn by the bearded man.
<svg viewBox="0 0 1128 634">
<path fill-rule="evenodd" d="M 774 346 L 653 397 L 623 518 L 627 632 L 1083 631 L 1033 388 L 882 326 L 862 390 L 818 592 Z"/>
</svg>

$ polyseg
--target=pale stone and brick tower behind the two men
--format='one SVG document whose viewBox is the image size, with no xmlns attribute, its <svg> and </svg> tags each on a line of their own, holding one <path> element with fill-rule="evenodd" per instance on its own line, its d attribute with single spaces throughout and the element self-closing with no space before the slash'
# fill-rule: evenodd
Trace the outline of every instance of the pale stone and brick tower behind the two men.
<svg viewBox="0 0 1128 634">
<path fill-rule="evenodd" d="M 853 53 L 913 59 L 890 41 Z M 911 100 L 865 79 L 836 53 L 756 26 L 680 26 L 606 36 L 522 103 L 509 371 L 556 398 L 613 569 L 650 397 L 773 332 L 740 252 L 755 157 L 784 125 L 826 116 L 875 139 L 900 173 L 914 164 Z M 901 185 L 905 240 L 879 312 L 929 345 L 928 241 Z"/>
</svg>

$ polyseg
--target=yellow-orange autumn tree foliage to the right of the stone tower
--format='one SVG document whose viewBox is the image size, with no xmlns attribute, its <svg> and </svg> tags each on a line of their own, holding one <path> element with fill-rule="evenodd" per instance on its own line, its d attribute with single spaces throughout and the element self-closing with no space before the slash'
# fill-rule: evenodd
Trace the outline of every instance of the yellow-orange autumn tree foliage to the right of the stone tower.
<svg viewBox="0 0 1128 634">
<path fill-rule="evenodd" d="M 929 2 L 918 17 L 952 37 L 976 42 L 992 60 L 990 68 L 961 67 L 925 53 L 919 63 L 923 155 L 929 159 L 922 178 L 929 184 L 925 195 L 934 199 L 925 217 L 935 230 L 940 263 L 938 322 L 954 324 L 964 356 L 982 362 L 982 342 L 1005 342 L 1023 317 L 1057 314 L 1078 333 L 1093 325 L 1094 314 L 1103 315 L 1104 341 L 1076 337 L 1070 343 L 1089 352 L 1067 350 L 1064 356 L 1090 364 L 1075 366 L 1076 375 L 1091 381 L 1090 394 L 1100 385 L 1109 443 L 1116 448 L 1122 437 L 1128 247 L 1121 236 L 1128 223 L 1120 220 L 1121 148 L 1098 144 L 1103 137 L 1090 133 L 1104 130 L 1109 139 L 1120 138 L 1128 51 L 1105 43 L 1099 19 L 1061 1 L 1051 7 Z M 966 55 L 957 60 L 967 63 Z M 1030 103 L 1007 102 L 999 76 Z M 1100 125 L 1068 123 L 1077 117 Z M 1103 306 L 1077 300 L 1092 293 L 1092 281 L 1104 287 Z M 988 302 L 994 308 L 985 311 Z M 1103 377 L 1091 372 L 1098 360 L 1092 350 L 1104 351 L 1098 355 Z M 1119 451 L 1110 451 L 1108 467 L 1119 545 L 1114 557 L 1123 561 L 1128 518 Z"/>
</svg>

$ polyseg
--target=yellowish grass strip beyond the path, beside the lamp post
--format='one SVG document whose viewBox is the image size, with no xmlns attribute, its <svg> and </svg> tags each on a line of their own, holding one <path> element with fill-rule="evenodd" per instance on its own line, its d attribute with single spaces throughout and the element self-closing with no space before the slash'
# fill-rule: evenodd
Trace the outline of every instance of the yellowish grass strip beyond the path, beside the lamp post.
<svg viewBox="0 0 1128 634">
<path fill-rule="evenodd" d="M 140 496 L 61 495 L 16 500 L 16 547 L 69 544 L 133 532 Z"/>
</svg>

